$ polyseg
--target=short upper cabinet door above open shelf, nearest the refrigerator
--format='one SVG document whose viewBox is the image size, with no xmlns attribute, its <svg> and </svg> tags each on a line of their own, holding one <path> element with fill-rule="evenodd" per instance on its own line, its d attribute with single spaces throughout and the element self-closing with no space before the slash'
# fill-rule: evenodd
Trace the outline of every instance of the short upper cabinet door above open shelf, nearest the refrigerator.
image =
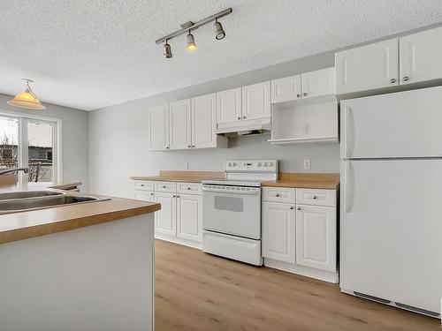
<svg viewBox="0 0 442 331">
<path fill-rule="evenodd" d="M 336 94 L 334 67 L 302 74 L 302 98 L 327 94 Z"/>
</svg>

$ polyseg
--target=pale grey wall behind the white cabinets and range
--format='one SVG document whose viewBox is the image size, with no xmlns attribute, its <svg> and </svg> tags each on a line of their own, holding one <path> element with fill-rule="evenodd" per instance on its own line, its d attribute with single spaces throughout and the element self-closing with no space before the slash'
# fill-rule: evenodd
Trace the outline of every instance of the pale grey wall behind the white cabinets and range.
<svg viewBox="0 0 442 331">
<path fill-rule="evenodd" d="M 277 158 L 283 172 L 305 171 L 303 160 L 310 159 L 309 171 L 339 172 L 337 143 L 278 147 L 267 142 L 270 136 L 255 136 L 230 139 L 228 149 L 148 150 L 151 106 L 333 65 L 334 52 L 328 52 L 89 112 L 90 192 L 132 198 L 131 176 L 184 169 L 184 162 L 192 170 L 222 170 L 225 160 L 232 158 Z"/>
</svg>

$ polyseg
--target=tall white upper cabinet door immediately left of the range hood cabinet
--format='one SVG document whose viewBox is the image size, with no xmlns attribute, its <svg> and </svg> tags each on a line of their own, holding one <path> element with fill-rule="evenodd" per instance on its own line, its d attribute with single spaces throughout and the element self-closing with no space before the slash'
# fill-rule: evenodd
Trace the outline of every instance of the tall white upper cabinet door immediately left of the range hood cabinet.
<svg viewBox="0 0 442 331">
<path fill-rule="evenodd" d="M 217 147 L 217 96 L 202 95 L 192 99 L 192 146 Z"/>
</svg>

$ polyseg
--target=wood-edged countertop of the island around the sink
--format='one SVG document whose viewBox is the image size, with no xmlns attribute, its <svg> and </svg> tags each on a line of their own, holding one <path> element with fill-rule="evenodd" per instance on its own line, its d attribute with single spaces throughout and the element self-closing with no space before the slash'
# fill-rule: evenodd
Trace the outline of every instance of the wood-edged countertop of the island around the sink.
<svg viewBox="0 0 442 331">
<path fill-rule="evenodd" d="M 35 185 L 30 185 L 32 191 Z M 39 189 L 42 189 L 40 187 Z M 7 192 L 4 188 L 3 192 Z M 23 190 L 23 186 L 21 186 Z M 17 190 L 15 190 L 17 191 Z M 26 190 L 25 190 L 26 191 Z M 9 191 L 11 192 L 11 190 Z M 88 196 L 88 193 L 68 192 L 69 195 Z M 108 198 L 93 194 L 95 197 Z M 0 244 L 10 243 L 31 237 L 39 237 L 95 225 L 103 222 L 156 212 L 159 203 L 133 199 L 110 198 L 79 205 L 52 207 L 15 214 L 0 215 Z"/>
</svg>

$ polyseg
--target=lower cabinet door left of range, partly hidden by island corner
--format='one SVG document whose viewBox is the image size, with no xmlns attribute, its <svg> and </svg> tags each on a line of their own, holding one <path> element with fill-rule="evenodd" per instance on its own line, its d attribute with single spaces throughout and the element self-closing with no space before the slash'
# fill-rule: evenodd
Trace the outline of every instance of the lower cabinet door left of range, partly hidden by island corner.
<svg viewBox="0 0 442 331">
<path fill-rule="evenodd" d="M 161 210 L 155 213 L 155 231 L 169 236 L 176 236 L 177 199 L 175 193 L 156 192 L 156 202 L 161 203 Z"/>
</svg>

